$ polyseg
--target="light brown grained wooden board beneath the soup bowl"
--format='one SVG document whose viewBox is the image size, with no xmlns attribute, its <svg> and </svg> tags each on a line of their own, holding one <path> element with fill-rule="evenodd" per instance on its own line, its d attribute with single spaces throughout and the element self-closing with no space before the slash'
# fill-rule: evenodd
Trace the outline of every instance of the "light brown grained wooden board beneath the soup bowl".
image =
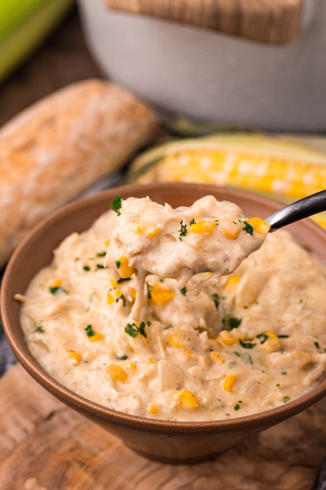
<svg viewBox="0 0 326 490">
<path fill-rule="evenodd" d="M 325 455 L 325 409 L 319 403 L 216 461 L 161 465 L 127 449 L 15 366 L 0 380 L 0 489 L 307 490 Z"/>
</svg>

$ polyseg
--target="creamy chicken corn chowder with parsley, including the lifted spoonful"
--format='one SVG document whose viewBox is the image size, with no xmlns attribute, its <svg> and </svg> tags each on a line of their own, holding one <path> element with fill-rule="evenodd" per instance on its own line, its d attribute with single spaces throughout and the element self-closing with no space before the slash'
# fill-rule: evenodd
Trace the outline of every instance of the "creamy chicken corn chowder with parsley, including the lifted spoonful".
<svg viewBox="0 0 326 490">
<path fill-rule="evenodd" d="M 54 379 L 120 412 L 193 421 L 262 412 L 321 379 L 326 271 L 289 233 L 213 196 L 111 207 L 17 295 Z"/>
</svg>

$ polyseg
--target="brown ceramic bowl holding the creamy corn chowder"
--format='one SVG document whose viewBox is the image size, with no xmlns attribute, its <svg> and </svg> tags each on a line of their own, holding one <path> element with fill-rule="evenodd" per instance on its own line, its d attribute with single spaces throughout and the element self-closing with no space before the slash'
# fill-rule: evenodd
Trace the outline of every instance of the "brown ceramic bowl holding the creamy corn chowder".
<svg viewBox="0 0 326 490">
<path fill-rule="evenodd" d="M 96 403 L 71 392 L 52 379 L 29 353 L 19 317 L 20 303 L 14 294 L 23 294 L 32 277 L 52 260 L 52 250 L 70 233 L 86 230 L 109 208 L 113 196 L 150 196 L 173 207 L 190 205 L 195 199 L 212 194 L 217 199 L 234 201 L 248 216 L 267 217 L 281 207 L 261 196 L 231 188 L 197 184 L 129 185 L 87 197 L 61 208 L 22 241 L 4 274 L 1 311 L 7 339 L 22 366 L 46 390 L 66 405 L 97 422 L 120 437 L 138 454 L 166 463 L 195 463 L 212 458 L 241 438 L 291 417 L 320 400 L 326 394 L 326 380 L 299 398 L 266 412 L 247 417 L 210 422 L 167 422 L 135 417 Z M 300 242 L 326 260 L 326 233 L 311 221 L 288 226 Z"/>
</svg>

